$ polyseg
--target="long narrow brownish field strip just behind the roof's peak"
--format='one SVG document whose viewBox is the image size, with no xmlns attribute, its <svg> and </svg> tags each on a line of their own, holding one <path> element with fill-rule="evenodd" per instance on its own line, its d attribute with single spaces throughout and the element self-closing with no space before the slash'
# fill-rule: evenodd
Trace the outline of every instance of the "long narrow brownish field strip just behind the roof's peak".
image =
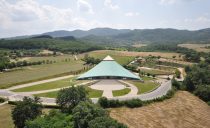
<svg viewBox="0 0 210 128">
<path fill-rule="evenodd" d="M 93 51 L 90 53 L 95 53 L 95 54 L 100 54 L 100 53 L 106 53 L 107 55 L 109 54 L 118 54 L 121 56 L 161 56 L 163 58 L 173 58 L 173 56 L 176 56 L 178 59 L 178 56 L 180 55 L 179 53 L 172 53 L 172 52 L 129 52 L 129 51 L 112 51 L 112 50 L 98 50 L 98 51 Z"/>
</svg>

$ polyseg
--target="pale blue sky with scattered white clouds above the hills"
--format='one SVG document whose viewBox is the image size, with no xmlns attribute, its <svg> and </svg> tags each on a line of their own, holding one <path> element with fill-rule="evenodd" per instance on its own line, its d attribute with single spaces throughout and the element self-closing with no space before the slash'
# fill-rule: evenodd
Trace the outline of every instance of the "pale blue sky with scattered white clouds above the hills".
<svg viewBox="0 0 210 128">
<path fill-rule="evenodd" d="M 0 38 L 55 30 L 210 27 L 210 0 L 0 0 Z"/>
</svg>

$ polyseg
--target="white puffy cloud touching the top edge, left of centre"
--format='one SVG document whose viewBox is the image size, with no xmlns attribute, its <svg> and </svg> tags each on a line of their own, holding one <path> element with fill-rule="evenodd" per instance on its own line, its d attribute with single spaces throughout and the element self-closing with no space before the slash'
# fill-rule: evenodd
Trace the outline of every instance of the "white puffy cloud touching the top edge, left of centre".
<svg viewBox="0 0 210 128">
<path fill-rule="evenodd" d="M 92 6 L 85 0 L 78 0 L 77 6 L 81 12 L 93 14 Z"/>
</svg>

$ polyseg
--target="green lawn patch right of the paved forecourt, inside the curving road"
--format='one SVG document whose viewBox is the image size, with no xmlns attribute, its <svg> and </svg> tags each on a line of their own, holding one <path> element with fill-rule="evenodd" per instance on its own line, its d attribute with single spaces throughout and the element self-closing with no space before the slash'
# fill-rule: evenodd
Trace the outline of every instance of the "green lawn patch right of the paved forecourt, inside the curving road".
<svg viewBox="0 0 210 128">
<path fill-rule="evenodd" d="M 127 82 L 135 85 L 138 88 L 138 94 L 142 94 L 142 93 L 152 91 L 159 86 L 159 84 L 154 83 L 152 81 L 140 82 L 140 81 L 127 80 Z"/>
</svg>

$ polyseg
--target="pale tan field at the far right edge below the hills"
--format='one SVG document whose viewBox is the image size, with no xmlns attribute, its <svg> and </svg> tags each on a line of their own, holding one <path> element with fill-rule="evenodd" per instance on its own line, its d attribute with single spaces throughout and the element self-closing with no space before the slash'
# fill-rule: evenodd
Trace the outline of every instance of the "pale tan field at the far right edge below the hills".
<svg viewBox="0 0 210 128">
<path fill-rule="evenodd" d="M 179 44 L 178 46 L 193 49 L 197 52 L 210 52 L 210 49 L 205 48 L 210 44 Z"/>
</svg>

